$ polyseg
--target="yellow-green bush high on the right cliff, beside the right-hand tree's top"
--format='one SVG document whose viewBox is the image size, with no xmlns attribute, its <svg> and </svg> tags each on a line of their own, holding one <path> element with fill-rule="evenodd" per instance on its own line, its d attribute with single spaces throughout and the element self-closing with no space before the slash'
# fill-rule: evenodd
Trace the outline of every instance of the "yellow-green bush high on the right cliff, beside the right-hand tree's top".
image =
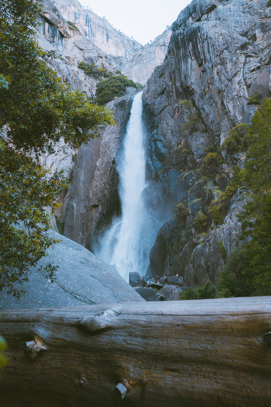
<svg viewBox="0 0 271 407">
<path fill-rule="evenodd" d="M 229 131 L 229 136 L 223 141 L 219 150 L 225 149 L 227 152 L 234 154 L 238 151 L 246 151 L 248 147 L 249 125 L 240 123 Z"/>
</svg>

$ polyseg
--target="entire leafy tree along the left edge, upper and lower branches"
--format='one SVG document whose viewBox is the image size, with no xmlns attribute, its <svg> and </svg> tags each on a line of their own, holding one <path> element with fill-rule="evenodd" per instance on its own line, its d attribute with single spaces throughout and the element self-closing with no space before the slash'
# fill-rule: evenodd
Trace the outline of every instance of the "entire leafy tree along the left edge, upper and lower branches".
<svg viewBox="0 0 271 407">
<path fill-rule="evenodd" d="M 61 138 L 79 147 L 115 123 L 108 109 L 73 92 L 43 61 L 33 29 L 39 10 L 32 0 L 0 3 L 0 130 L 6 129 L 0 143 L 0 291 L 5 287 L 17 298 L 23 291 L 14 284 L 27 281 L 29 268 L 57 242 L 43 207 L 56 207 L 65 180 L 62 172 L 49 177 L 39 154 L 52 153 Z M 54 280 L 54 265 L 39 270 Z"/>
</svg>

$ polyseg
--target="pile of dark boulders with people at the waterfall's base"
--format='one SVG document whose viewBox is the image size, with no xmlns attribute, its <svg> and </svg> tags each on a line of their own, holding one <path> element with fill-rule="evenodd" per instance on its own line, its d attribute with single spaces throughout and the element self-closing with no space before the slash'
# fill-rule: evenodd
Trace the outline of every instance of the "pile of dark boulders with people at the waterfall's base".
<svg viewBox="0 0 271 407">
<path fill-rule="evenodd" d="M 188 288 L 182 287 L 182 278 L 176 276 L 161 277 L 156 283 L 152 277 L 141 277 L 135 271 L 129 273 L 129 284 L 146 301 L 161 301 L 161 295 L 164 297 L 162 301 L 175 301 L 179 299 L 180 291 Z"/>
</svg>

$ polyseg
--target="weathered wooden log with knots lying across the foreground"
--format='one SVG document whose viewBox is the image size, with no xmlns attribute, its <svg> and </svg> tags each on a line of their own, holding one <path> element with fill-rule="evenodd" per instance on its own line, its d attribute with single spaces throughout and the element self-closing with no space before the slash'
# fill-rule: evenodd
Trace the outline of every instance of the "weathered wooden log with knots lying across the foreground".
<svg viewBox="0 0 271 407">
<path fill-rule="evenodd" d="M 271 405 L 271 297 L 2 311 L 0 333 L 5 407 Z"/>
</svg>

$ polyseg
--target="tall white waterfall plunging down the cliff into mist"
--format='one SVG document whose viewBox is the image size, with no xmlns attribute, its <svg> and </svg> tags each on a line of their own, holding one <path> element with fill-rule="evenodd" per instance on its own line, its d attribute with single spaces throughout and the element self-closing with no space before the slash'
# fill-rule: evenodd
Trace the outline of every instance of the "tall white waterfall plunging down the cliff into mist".
<svg viewBox="0 0 271 407">
<path fill-rule="evenodd" d="M 100 241 L 95 254 L 115 267 L 129 279 L 130 271 L 145 275 L 149 264 L 146 256 L 144 234 L 144 206 L 140 200 L 145 183 L 145 151 L 143 145 L 142 92 L 134 96 L 130 119 L 124 139 L 124 156 L 117 168 L 120 185 L 121 218 L 113 221 L 111 228 Z M 148 253 L 147 253 L 148 254 Z"/>
</svg>

